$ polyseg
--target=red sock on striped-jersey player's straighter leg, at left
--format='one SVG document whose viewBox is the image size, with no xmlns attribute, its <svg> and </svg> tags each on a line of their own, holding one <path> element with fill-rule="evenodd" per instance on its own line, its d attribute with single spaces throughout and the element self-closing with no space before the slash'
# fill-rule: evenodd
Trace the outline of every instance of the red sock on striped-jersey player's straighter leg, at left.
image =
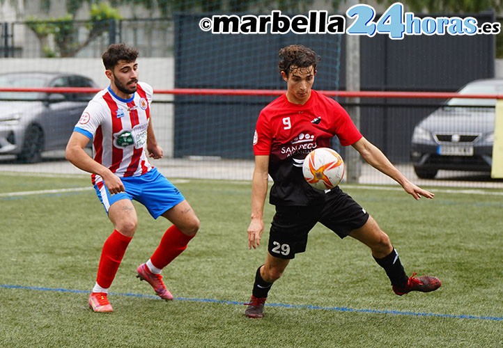
<svg viewBox="0 0 503 348">
<path fill-rule="evenodd" d="M 108 289 L 111 282 L 114 281 L 118 267 L 124 257 L 127 246 L 130 244 L 132 237 L 114 230 L 107 238 L 101 252 L 100 264 L 98 266 L 98 276 L 96 283 L 105 289 Z"/>
</svg>

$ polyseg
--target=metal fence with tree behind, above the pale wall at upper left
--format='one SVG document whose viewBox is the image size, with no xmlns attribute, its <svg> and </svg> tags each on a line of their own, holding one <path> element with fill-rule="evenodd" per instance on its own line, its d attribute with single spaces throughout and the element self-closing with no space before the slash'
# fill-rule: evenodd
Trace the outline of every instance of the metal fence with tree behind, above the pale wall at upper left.
<svg viewBox="0 0 503 348">
<path fill-rule="evenodd" d="M 100 57 L 108 45 L 127 42 L 142 56 L 173 55 L 171 19 L 8 22 L 0 24 L 0 57 Z"/>
</svg>

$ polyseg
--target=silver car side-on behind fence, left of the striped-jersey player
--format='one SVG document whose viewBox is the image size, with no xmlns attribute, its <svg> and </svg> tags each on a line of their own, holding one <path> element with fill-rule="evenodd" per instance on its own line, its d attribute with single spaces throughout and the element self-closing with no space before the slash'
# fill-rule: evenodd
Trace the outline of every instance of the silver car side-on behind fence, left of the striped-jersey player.
<svg viewBox="0 0 503 348">
<path fill-rule="evenodd" d="M 88 77 L 59 72 L 0 74 L 0 87 L 98 88 Z M 42 152 L 64 149 L 94 93 L 0 92 L 0 155 L 35 163 Z"/>
</svg>

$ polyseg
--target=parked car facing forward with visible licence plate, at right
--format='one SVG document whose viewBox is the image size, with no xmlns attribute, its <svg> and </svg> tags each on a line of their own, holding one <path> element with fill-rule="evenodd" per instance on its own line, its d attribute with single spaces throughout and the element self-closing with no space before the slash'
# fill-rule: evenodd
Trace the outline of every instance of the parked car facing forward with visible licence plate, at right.
<svg viewBox="0 0 503 348">
<path fill-rule="evenodd" d="M 465 95 L 503 94 L 503 79 L 472 81 Z M 490 171 L 496 99 L 453 98 L 414 129 L 410 159 L 418 177 L 433 179 L 440 169 Z"/>
</svg>

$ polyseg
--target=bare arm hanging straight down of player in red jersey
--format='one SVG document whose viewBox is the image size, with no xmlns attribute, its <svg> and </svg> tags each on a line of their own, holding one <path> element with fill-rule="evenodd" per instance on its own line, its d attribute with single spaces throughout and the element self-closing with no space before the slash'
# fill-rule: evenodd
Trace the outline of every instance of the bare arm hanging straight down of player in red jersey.
<svg viewBox="0 0 503 348">
<path fill-rule="evenodd" d="M 269 156 L 255 156 L 255 169 L 252 177 L 252 221 L 248 226 L 248 248 L 261 244 L 264 230 L 263 212 L 265 197 L 268 193 Z"/>
</svg>

